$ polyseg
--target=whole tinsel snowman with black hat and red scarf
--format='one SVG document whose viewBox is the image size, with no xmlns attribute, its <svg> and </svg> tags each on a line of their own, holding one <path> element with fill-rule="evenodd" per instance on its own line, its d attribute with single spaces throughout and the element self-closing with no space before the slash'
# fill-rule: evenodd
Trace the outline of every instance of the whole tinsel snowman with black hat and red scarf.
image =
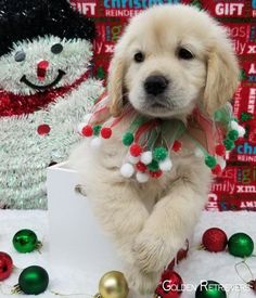
<svg viewBox="0 0 256 298">
<path fill-rule="evenodd" d="M 46 169 L 102 92 L 93 23 L 66 0 L 0 0 L 0 207 L 47 208 Z"/>
</svg>

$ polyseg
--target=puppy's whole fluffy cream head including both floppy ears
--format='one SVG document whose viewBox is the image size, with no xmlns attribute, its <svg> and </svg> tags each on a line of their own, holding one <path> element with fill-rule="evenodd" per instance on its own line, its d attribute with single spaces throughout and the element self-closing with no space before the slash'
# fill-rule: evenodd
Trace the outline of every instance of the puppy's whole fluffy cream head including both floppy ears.
<svg viewBox="0 0 256 298">
<path fill-rule="evenodd" d="M 108 88 L 115 89 L 114 98 L 119 95 L 113 109 L 121 108 L 125 93 L 142 114 L 178 117 L 190 114 L 200 101 L 218 108 L 230 100 L 236 81 L 238 65 L 223 29 L 193 8 L 162 5 L 128 25 L 116 47 Z M 118 83 L 121 94 L 113 86 Z M 207 93 L 212 88 L 219 93 L 215 99 Z"/>
</svg>

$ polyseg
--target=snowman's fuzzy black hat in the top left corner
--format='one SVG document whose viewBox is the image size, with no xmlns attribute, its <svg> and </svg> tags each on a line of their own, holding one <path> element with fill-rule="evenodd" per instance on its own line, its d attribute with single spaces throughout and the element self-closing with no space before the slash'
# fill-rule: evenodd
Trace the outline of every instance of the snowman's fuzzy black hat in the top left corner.
<svg viewBox="0 0 256 298">
<path fill-rule="evenodd" d="M 47 35 L 92 40 L 94 24 L 66 0 L 0 0 L 0 55 L 13 42 Z"/>
</svg>

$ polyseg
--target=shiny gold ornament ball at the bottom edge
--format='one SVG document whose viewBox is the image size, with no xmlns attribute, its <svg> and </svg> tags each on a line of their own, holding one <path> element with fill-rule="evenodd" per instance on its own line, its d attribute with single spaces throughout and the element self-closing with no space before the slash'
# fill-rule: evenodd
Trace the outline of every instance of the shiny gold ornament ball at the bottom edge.
<svg viewBox="0 0 256 298">
<path fill-rule="evenodd" d="M 125 275 L 119 271 L 105 273 L 99 284 L 102 298 L 127 298 L 129 288 Z"/>
</svg>

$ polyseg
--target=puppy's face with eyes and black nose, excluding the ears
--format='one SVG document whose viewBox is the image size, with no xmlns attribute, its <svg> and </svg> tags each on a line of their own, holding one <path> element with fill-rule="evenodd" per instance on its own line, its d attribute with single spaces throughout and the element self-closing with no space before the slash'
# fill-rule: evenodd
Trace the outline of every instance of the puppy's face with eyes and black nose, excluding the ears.
<svg viewBox="0 0 256 298">
<path fill-rule="evenodd" d="M 199 38 L 182 35 L 183 28 L 167 21 L 143 23 L 144 35 L 136 36 L 127 49 L 128 99 L 137 111 L 156 117 L 191 112 L 206 80 Z"/>
</svg>

